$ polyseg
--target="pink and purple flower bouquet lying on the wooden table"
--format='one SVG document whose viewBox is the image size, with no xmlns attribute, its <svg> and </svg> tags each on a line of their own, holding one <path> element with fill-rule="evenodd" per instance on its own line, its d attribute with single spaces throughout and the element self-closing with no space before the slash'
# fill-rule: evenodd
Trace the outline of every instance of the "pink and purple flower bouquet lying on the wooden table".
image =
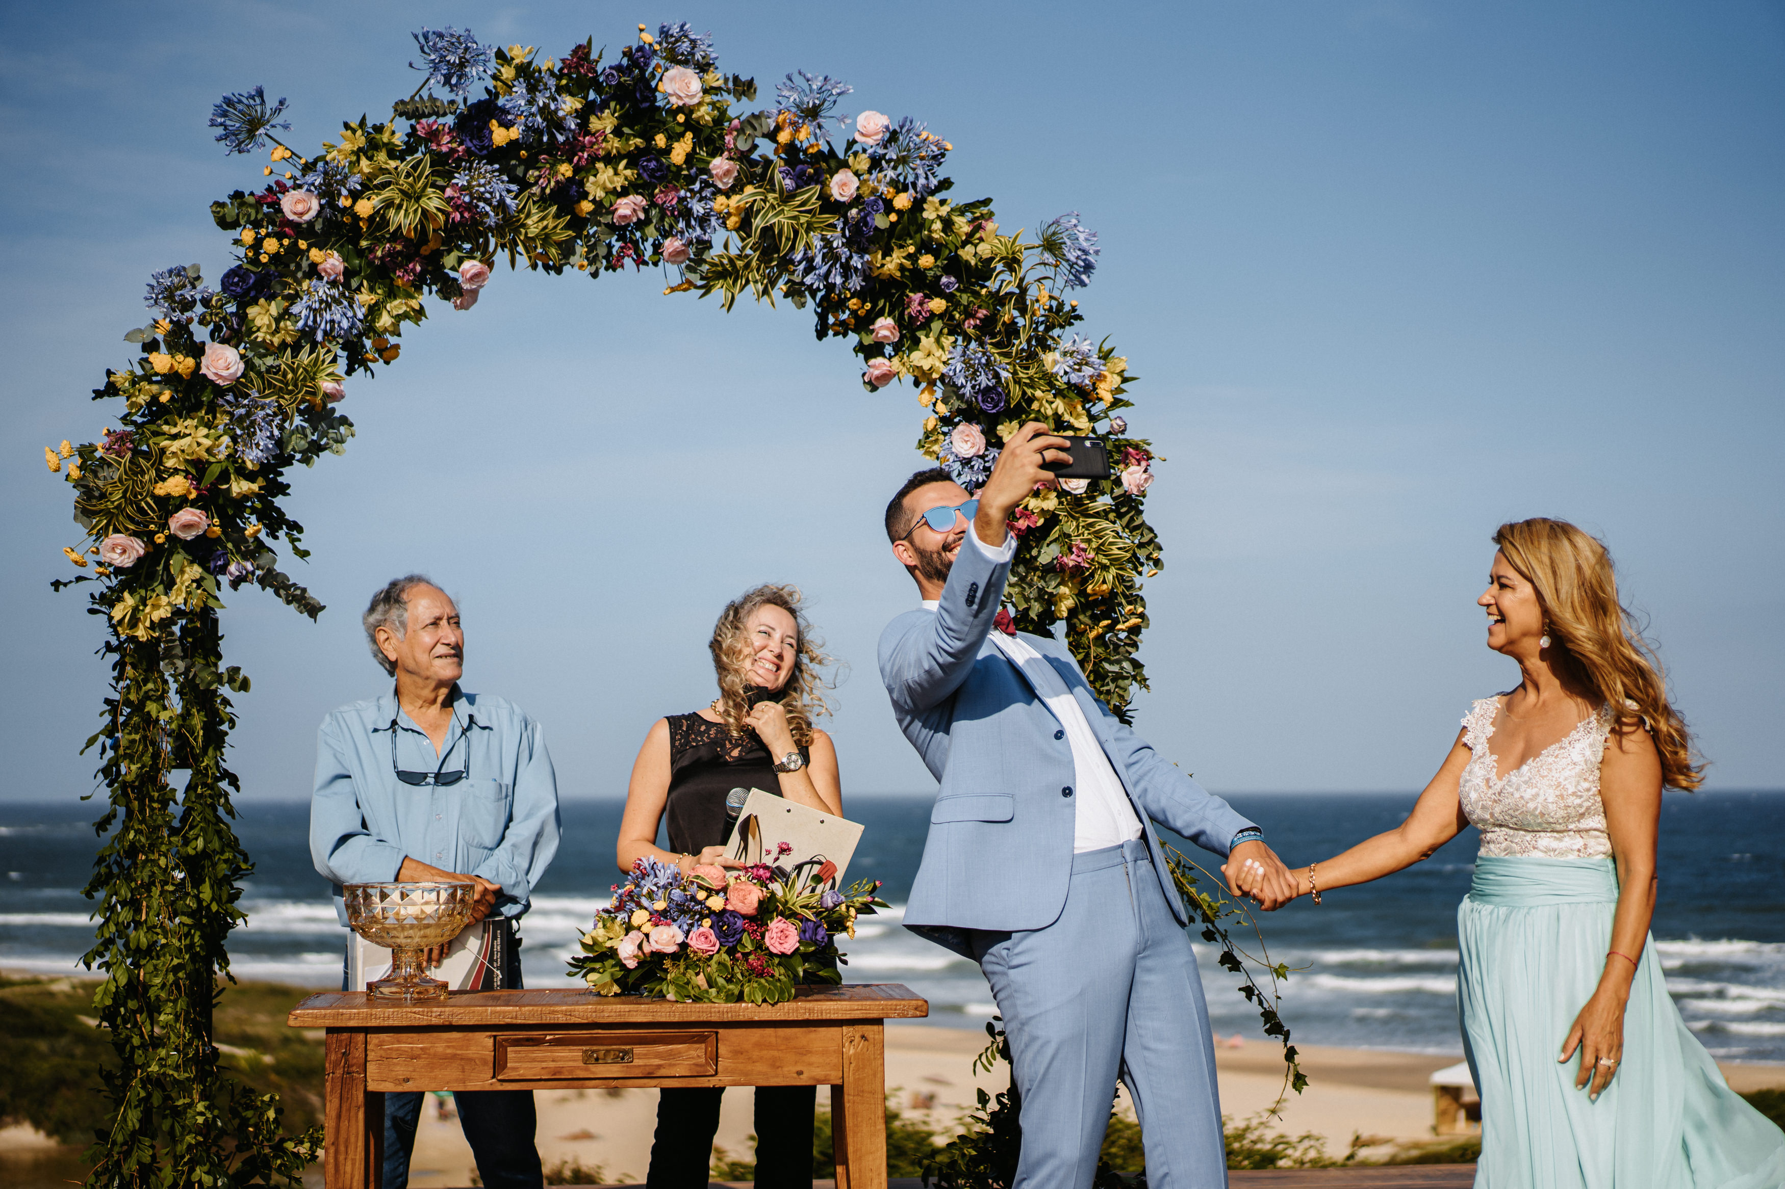
<svg viewBox="0 0 1785 1189">
<path fill-rule="evenodd" d="M 639 859 L 582 934 L 569 977 L 600 995 L 696 1004 L 784 1004 L 801 982 L 843 982 L 837 934 L 853 938 L 855 918 L 885 900 L 876 879 L 837 891 L 835 873 L 830 863 L 798 875 L 759 863 L 684 875 Z"/>
</svg>

